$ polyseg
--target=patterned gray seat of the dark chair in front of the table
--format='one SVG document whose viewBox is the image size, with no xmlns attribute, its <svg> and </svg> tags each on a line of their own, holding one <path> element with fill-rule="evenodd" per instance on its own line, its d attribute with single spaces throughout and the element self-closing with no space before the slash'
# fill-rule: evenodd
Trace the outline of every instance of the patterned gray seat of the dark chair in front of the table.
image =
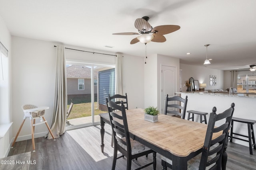
<svg viewBox="0 0 256 170">
<path fill-rule="evenodd" d="M 122 137 L 122 140 L 126 141 L 126 138 Z M 131 142 L 132 155 L 150 150 L 148 147 L 146 147 L 145 145 L 142 145 L 141 143 L 139 143 L 137 141 L 134 141 L 132 138 L 130 138 L 130 142 Z M 127 150 L 127 146 L 126 145 L 124 145 L 124 144 L 122 144 L 120 142 L 117 142 L 117 143 L 123 149 Z"/>
</svg>

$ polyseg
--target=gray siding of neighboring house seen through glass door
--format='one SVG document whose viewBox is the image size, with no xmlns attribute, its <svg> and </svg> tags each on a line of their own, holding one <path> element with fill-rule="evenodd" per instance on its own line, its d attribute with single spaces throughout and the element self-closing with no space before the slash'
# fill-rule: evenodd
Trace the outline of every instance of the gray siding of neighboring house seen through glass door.
<svg viewBox="0 0 256 170">
<path fill-rule="evenodd" d="M 78 78 L 67 78 L 67 90 L 68 95 L 91 94 L 91 79 L 84 78 L 84 90 L 78 90 Z M 94 86 L 94 93 L 97 94 L 97 86 Z"/>
</svg>

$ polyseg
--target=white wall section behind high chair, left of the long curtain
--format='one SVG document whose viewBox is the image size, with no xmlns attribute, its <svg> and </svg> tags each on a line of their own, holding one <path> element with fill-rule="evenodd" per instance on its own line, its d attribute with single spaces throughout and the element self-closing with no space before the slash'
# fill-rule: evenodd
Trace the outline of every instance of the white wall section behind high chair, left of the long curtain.
<svg viewBox="0 0 256 170">
<path fill-rule="evenodd" d="M 45 118 L 52 123 L 56 47 L 54 43 L 12 36 L 12 111 L 13 135 L 23 121 L 21 106 L 33 104 L 49 106 Z M 37 120 L 39 121 L 39 120 Z M 31 139 L 30 120 L 26 119 L 17 141 Z M 35 137 L 42 137 L 48 129 L 45 124 L 35 127 Z"/>
</svg>

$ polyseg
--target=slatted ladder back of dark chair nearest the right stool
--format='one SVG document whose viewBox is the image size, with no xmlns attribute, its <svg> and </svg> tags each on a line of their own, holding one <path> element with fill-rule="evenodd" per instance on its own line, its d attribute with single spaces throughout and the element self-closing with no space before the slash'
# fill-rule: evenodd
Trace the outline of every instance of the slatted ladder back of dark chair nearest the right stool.
<svg viewBox="0 0 256 170">
<path fill-rule="evenodd" d="M 225 143 L 227 142 L 228 129 L 230 128 L 230 122 L 234 113 L 234 106 L 235 104 L 232 103 L 229 109 L 226 109 L 224 112 L 219 114 L 216 114 L 216 107 L 212 108 L 212 113 L 210 113 L 206 137 L 204 140 L 204 147 L 200 160 L 200 170 L 205 170 L 207 166 L 210 166 L 212 164 L 214 164 L 214 166 L 210 168 L 211 170 L 221 169 L 222 153 Z M 225 122 L 222 123 L 220 126 L 215 127 L 216 121 L 222 121 L 223 119 L 226 119 Z M 216 139 L 212 139 L 213 133 L 219 133 L 221 131 L 222 135 L 220 135 Z"/>
</svg>

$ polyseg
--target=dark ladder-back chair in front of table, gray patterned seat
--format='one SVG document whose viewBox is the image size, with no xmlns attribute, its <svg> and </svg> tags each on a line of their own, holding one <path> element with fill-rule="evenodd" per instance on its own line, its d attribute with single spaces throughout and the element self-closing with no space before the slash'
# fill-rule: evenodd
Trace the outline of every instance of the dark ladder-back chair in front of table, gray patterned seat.
<svg viewBox="0 0 256 170">
<path fill-rule="evenodd" d="M 150 153 L 153 153 L 153 162 L 150 162 L 144 166 L 141 166 L 136 170 L 140 170 L 151 164 L 153 164 L 153 169 L 156 170 L 156 152 L 130 138 L 127 119 L 126 119 L 126 109 L 123 102 L 121 101 L 120 102 L 121 106 L 119 106 L 113 101 L 108 101 L 108 98 L 106 98 L 106 104 L 108 107 L 112 133 L 114 135 L 114 156 L 113 156 L 112 170 L 115 169 L 116 160 L 118 158 L 122 158 L 125 156 L 127 158 L 126 170 L 130 170 L 133 159 L 136 159 L 140 156 L 144 156 Z M 122 115 L 112 112 L 112 108 L 114 110 L 121 111 Z M 117 151 L 121 152 L 122 155 L 117 157 Z"/>
</svg>

